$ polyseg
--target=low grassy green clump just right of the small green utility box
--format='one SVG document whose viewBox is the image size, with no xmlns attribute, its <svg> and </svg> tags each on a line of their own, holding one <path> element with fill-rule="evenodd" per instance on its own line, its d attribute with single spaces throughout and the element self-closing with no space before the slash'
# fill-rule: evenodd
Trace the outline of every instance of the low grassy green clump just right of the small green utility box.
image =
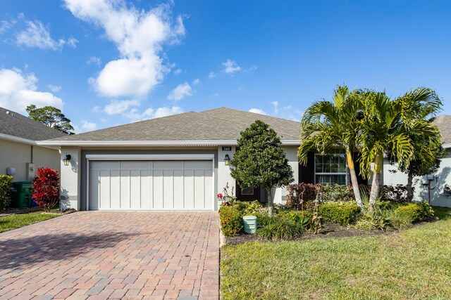
<svg viewBox="0 0 451 300">
<path fill-rule="evenodd" d="M 299 237 L 302 228 L 289 219 L 268 217 L 266 224 L 257 230 L 257 235 L 266 240 L 292 240 Z"/>
</svg>

